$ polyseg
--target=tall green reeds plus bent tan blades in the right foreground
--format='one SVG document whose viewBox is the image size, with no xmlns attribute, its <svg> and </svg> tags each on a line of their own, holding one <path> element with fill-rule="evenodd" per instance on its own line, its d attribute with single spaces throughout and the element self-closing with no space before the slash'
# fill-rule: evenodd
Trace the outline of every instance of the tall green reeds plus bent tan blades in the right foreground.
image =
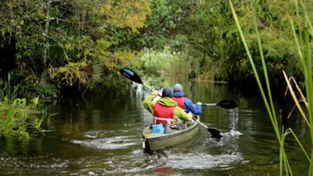
<svg viewBox="0 0 313 176">
<path fill-rule="evenodd" d="M 260 58 L 262 59 L 262 66 L 263 66 L 263 76 L 266 79 L 266 86 L 263 86 L 261 84 L 260 78 L 259 78 L 259 73 L 257 71 L 257 66 L 255 64 L 255 58 L 252 57 L 251 55 L 251 48 L 249 48 L 247 41 L 246 41 L 246 36 L 244 35 L 243 30 L 245 30 L 245 22 L 242 22 L 241 19 L 238 18 L 237 14 L 238 12 L 235 10 L 235 6 L 232 2 L 232 0 L 228 0 L 231 11 L 232 11 L 232 16 L 234 18 L 234 21 L 237 26 L 237 30 L 240 34 L 240 38 L 242 43 L 244 44 L 244 48 L 246 50 L 247 57 L 249 59 L 249 62 L 252 66 L 253 73 L 255 75 L 256 81 L 258 83 L 260 92 L 262 94 L 262 98 L 264 100 L 264 104 L 266 106 L 266 109 L 268 111 L 268 116 L 271 120 L 274 132 L 276 133 L 276 137 L 278 140 L 278 145 L 279 145 L 279 165 L 280 165 L 280 176 L 286 175 L 286 176 L 293 176 L 293 171 L 292 171 L 292 161 L 288 159 L 289 151 L 287 150 L 288 146 L 285 146 L 285 140 L 288 135 L 291 134 L 292 138 L 297 142 L 299 148 L 302 150 L 303 154 L 306 156 L 308 159 L 308 175 L 312 176 L 313 174 L 313 151 L 309 150 L 307 151 L 302 143 L 301 140 L 297 137 L 297 135 L 293 132 L 291 128 L 284 129 L 284 126 L 281 127 L 280 122 L 278 121 L 278 118 L 276 117 L 276 110 L 273 105 L 273 98 L 272 98 L 272 93 L 271 93 L 271 88 L 269 84 L 269 76 L 268 76 L 268 66 L 265 60 L 264 56 L 264 50 L 263 48 L 265 47 L 264 44 L 261 42 L 262 36 L 260 35 L 261 32 L 259 32 L 259 27 L 258 27 L 258 22 L 257 22 L 257 14 L 258 10 L 256 7 L 258 3 L 256 1 L 251 0 L 250 1 L 250 10 L 252 12 L 252 18 L 251 21 L 254 23 L 255 26 L 255 34 L 257 37 L 257 43 L 259 46 L 259 54 Z M 311 146 L 313 146 L 313 80 L 312 80 L 312 40 L 310 37 L 313 37 L 313 25 L 312 25 L 312 18 L 309 17 L 308 14 L 308 9 L 307 7 L 309 4 L 307 4 L 306 1 L 302 0 L 294 0 L 291 4 L 294 7 L 294 13 L 295 18 L 292 18 L 292 16 L 288 16 L 289 18 L 289 23 L 291 32 L 293 34 L 293 39 L 294 39 L 294 46 L 293 48 L 296 48 L 298 51 L 298 62 L 301 63 L 302 65 L 302 74 L 305 78 L 304 84 L 305 84 L 305 90 L 306 90 L 306 97 L 302 94 L 300 88 L 297 86 L 296 81 L 293 78 L 294 84 L 296 88 L 298 89 L 299 93 L 301 94 L 303 101 L 305 105 L 307 106 L 307 112 L 309 120 L 307 119 L 305 112 L 301 109 L 301 106 L 299 105 L 299 101 L 296 98 L 296 95 L 291 87 L 290 81 L 285 73 L 284 70 L 282 70 L 283 75 L 285 77 L 285 80 L 288 84 L 288 89 L 291 92 L 292 98 L 296 104 L 296 107 L 298 110 L 301 112 L 301 115 L 303 119 L 306 122 L 307 127 L 310 130 L 310 137 L 311 137 Z M 311 4 L 312 6 L 312 4 Z M 312 11 L 311 11 L 312 12 Z M 300 13 L 302 16 L 300 16 Z M 294 22 L 296 21 L 296 25 L 294 27 Z M 304 25 L 302 25 L 304 24 Z M 243 27 L 242 27 L 243 26 Z M 265 91 L 267 90 L 267 91 Z M 307 101 L 306 101 L 307 100 Z M 312 147 L 310 148 L 312 149 Z M 310 154 L 311 153 L 311 154 Z"/>
</svg>

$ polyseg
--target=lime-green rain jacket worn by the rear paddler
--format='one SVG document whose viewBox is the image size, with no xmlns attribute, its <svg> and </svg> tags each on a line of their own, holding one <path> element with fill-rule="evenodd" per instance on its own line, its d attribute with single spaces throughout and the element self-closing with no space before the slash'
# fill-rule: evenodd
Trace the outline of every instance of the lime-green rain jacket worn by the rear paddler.
<svg viewBox="0 0 313 176">
<path fill-rule="evenodd" d="M 175 102 L 172 98 L 162 97 L 158 99 L 156 102 L 153 102 L 156 96 L 157 95 L 155 93 L 151 93 L 142 103 L 143 107 L 145 107 L 145 109 L 147 109 L 152 115 L 154 115 L 155 104 L 157 102 L 163 106 L 175 107 L 173 116 L 173 119 L 175 120 L 174 125 L 176 123 L 176 119 L 178 118 L 185 121 L 191 121 L 191 117 L 186 112 L 184 112 L 184 110 L 179 108 L 179 106 L 177 106 L 177 102 Z"/>
</svg>

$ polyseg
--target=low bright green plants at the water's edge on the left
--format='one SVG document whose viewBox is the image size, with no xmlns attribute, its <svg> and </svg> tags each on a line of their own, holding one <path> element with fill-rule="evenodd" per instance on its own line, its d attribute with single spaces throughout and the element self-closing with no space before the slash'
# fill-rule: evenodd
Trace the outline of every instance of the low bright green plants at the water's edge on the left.
<svg viewBox="0 0 313 176">
<path fill-rule="evenodd" d="M 29 132 L 42 132 L 43 118 L 37 116 L 35 109 L 39 98 L 31 100 L 26 106 L 26 99 L 15 99 L 12 104 L 0 102 L 0 135 L 29 138 Z"/>
</svg>

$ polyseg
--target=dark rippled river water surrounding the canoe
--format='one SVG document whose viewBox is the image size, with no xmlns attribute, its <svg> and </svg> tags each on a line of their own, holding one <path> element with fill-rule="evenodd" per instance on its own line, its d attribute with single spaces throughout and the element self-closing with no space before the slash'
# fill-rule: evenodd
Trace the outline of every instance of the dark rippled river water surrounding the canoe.
<svg viewBox="0 0 313 176">
<path fill-rule="evenodd" d="M 49 113 L 58 114 L 45 122 L 53 131 L 42 137 L 0 139 L 0 175 L 279 175 L 278 142 L 258 90 L 213 83 L 183 86 L 194 103 L 238 102 L 235 110 L 203 108 L 201 121 L 224 132 L 221 140 L 209 138 L 201 128 L 188 142 L 144 153 L 141 131 L 153 120 L 142 107 L 148 92 L 91 94 L 85 100 L 66 98 L 47 104 Z M 280 100 L 275 106 L 280 124 L 292 127 L 309 146 L 304 120 L 297 114 L 286 120 L 292 104 Z M 308 161 L 291 136 L 285 146 L 294 175 L 307 175 Z"/>
</svg>

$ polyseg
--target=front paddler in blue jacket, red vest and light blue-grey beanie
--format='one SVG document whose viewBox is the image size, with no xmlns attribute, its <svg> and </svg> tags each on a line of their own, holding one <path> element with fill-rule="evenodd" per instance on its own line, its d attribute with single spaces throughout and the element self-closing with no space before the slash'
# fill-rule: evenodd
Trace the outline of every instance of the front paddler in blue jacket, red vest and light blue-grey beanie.
<svg viewBox="0 0 313 176">
<path fill-rule="evenodd" d="M 174 85 L 172 99 L 176 101 L 178 106 L 185 110 L 186 113 L 192 112 L 196 115 L 200 115 L 202 113 L 202 103 L 198 102 L 195 105 L 189 98 L 186 98 L 180 84 Z"/>
</svg>

